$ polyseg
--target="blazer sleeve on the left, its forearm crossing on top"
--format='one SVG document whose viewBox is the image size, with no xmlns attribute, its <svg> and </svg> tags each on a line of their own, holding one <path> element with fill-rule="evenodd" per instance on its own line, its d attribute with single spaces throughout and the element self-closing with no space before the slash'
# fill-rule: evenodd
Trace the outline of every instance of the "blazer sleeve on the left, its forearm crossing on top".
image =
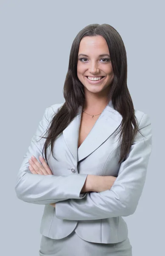
<svg viewBox="0 0 165 256">
<path fill-rule="evenodd" d="M 31 144 L 23 157 L 20 170 L 17 174 L 15 192 L 19 199 L 28 203 L 51 204 L 68 198 L 82 199 L 87 194 L 80 193 L 87 178 L 87 174 L 70 174 L 65 176 L 38 175 L 32 174 L 28 168 L 28 159 L 32 155 L 34 155 L 38 161 L 39 155 L 42 155 L 43 140 L 45 139 L 40 138 L 37 141 L 35 138 L 38 137 L 38 135 L 45 135 L 43 133 L 45 133 L 48 128 L 50 113 L 52 112 L 53 109 L 51 106 L 45 109 L 42 120 L 39 122 L 36 133 L 31 139 Z M 46 135 L 44 137 L 46 137 Z"/>
</svg>

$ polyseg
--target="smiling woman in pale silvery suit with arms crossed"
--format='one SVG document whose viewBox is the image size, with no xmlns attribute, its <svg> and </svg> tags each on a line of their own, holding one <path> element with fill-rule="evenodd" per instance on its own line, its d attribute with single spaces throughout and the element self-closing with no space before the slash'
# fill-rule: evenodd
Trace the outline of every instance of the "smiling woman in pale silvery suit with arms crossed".
<svg viewBox="0 0 165 256">
<path fill-rule="evenodd" d="M 143 191 L 152 131 L 134 110 L 126 50 L 109 24 L 74 39 L 64 99 L 46 108 L 15 186 L 21 200 L 45 204 L 39 255 L 131 256 L 122 216 Z"/>
</svg>

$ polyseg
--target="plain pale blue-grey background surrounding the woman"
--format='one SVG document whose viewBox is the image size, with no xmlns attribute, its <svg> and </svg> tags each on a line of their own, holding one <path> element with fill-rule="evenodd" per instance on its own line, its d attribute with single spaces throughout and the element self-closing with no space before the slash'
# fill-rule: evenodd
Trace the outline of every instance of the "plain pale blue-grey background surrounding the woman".
<svg viewBox="0 0 165 256">
<path fill-rule="evenodd" d="M 64 102 L 71 44 L 91 23 L 123 38 L 134 108 L 151 117 L 153 150 L 136 212 L 124 217 L 133 256 L 164 255 L 163 1 L 0 1 L 0 254 L 38 255 L 44 205 L 17 199 L 16 175 L 45 108 Z"/>
</svg>

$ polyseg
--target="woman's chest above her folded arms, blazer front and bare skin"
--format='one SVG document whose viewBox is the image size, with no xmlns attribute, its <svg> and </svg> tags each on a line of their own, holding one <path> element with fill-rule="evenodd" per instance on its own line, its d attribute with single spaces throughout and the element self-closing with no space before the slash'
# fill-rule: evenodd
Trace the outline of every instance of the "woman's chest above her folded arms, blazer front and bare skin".
<svg viewBox="0 0 165 256">
<path fill-rule="evenodd" d="M 115 117 L 114 117 L 115 119 Z M 56 176 L 72 174 L 117 175 L 120 147 L 118 136 L 113 136 L 119 122 L 108 113 L 89 116 L 82 113 L 57 137 L 48 164 Z M 50 146 L 48 147 L 48 155 Z M 76 172 L 76 174 L 77 174 Z"/>
</svg>

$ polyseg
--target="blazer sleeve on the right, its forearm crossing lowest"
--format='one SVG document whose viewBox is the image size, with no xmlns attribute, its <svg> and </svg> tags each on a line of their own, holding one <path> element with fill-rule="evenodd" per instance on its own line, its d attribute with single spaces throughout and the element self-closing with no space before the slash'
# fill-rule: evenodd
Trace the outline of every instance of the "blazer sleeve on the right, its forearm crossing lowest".
<svg viewBox="0 0 165 256">
<path fill-rule="evenodd" d="M 56 203 L 56 217 L 67 220 L 97 220 L 129 216 L 135 212 L 145 183 L 152 148 L 150 118 L 143 114 L 140 134 L 134 138 L 126 159 L 120 164 L 111 189 L 89 192 L 82 200 L 68 199 Z"/>
</svg>

